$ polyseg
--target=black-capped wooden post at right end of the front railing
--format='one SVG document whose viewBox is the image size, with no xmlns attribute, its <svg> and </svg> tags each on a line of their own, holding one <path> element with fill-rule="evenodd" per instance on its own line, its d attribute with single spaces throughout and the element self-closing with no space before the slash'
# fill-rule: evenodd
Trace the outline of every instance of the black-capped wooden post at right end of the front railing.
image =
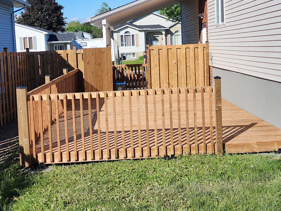
<svg viewBox="0 0 281 211">
<path fill-rule="evenodd" d="M 215 76 L 215 111 L 216 111 L 216 143 L 217 155 L 223 154 L 222 148 L 222 93 L 221 93 L 221 77 Z"/>
</svg>

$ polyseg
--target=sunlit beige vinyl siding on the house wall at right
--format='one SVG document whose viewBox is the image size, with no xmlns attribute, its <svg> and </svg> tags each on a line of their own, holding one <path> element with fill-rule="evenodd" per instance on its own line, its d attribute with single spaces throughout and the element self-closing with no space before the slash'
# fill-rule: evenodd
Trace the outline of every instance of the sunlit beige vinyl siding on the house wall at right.
<svg viewBox="0 0 281 211">
<path fill-rule="evenodd" d="M 225 25 L 215 26 L 208 1 L 211 65 L 281 82 L 280 8 L 280 0 L 225 0 Z"/>
</svg>

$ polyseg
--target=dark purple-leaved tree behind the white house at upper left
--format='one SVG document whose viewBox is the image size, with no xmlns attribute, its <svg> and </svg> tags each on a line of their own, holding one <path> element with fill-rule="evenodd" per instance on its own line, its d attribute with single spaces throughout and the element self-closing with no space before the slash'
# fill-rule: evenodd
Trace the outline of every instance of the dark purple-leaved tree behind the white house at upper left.
<svg viewBox="0 0 281 211">
<path fill-rule="evenodd" d="M 35 26 L 53 32 L 64 32 L 66 25 L 61 11 L 64 7 L 56 0 L 27 0 L 31 7 L 25 8 L 20 16 L 16 17 L 16 23 Z"/>
</svg>

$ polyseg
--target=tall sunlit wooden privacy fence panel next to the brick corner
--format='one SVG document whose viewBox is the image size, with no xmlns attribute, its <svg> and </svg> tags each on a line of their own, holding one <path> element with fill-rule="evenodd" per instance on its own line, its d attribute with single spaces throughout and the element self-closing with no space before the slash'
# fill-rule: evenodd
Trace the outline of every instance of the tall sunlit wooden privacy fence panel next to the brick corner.
<svg viewBox="0 0 281 211">
<path fill-rule="evenodd" d="M 148 89 L 209 86 L 209 43 L 147 45 Z"/>
</svg>

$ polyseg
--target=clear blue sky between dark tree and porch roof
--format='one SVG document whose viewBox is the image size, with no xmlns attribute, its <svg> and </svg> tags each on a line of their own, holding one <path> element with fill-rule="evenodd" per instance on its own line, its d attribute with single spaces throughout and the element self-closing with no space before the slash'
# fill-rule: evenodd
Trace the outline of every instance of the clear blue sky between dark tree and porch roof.
<svg viewBox="0 0 281 211">
<path fill-rule="evenodd" d="M 134 0 L 57 0 L 59 4 L 64 6 L 64 17 L 69 21 L 86 22 L 87 18 L 90 18 L 95 14 L 98 8 L 100 8 L 102 2 L 108 4 L 112 9 L 128 4 Z"/>
</svg>

